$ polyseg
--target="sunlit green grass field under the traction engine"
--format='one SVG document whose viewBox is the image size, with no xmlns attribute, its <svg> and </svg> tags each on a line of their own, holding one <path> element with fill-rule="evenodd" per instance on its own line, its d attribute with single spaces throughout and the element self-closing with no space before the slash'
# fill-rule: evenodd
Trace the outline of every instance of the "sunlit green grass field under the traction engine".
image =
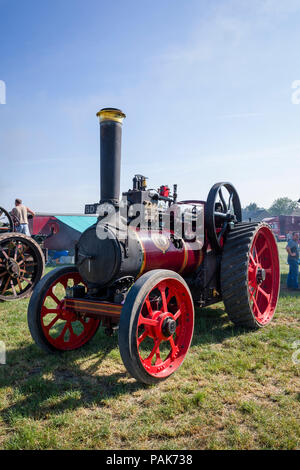
<svg viewBox="0 0 300 470">
<path fill-rule="evenodd" d="M 284 246 L 273 322 L 249 332 L 221 303 L 197 311 L 183 366 L 157 386 L 129 377 L 117 336 L 100 329 L 85 348 L 49 356 L 29 334 L 28 299 L 1 303 L 0 448 L 299 449 L 300 294 L 285 289 Z"/>
</svg>

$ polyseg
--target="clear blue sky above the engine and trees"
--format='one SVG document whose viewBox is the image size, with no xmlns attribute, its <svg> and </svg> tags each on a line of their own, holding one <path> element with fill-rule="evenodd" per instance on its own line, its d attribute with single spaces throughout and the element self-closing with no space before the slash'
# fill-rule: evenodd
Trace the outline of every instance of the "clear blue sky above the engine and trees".
<svg viewBox="0 0 300 470">
<path fill-rule="evenodd" d="M 134 173 L 242 205 L 300 197 L 300 1 L 0 0 L 0 205 L 99 200 L 96 112 L 119 107 Z"/>
</svg>

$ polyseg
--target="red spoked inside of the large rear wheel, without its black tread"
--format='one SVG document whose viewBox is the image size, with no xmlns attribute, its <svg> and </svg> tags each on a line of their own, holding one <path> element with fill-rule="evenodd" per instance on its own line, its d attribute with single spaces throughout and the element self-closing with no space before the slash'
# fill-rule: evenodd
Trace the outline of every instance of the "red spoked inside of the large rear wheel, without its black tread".
<svg viewBox="0 0 300 470">
<path fill-rule="evenodd" d="M 279 259 L 273 234 L 268 227 L 256 233 L 249 252 L 249 303 L 260 325 L 269 323 L 275 313 L 279 293 Z"/>
</svg>

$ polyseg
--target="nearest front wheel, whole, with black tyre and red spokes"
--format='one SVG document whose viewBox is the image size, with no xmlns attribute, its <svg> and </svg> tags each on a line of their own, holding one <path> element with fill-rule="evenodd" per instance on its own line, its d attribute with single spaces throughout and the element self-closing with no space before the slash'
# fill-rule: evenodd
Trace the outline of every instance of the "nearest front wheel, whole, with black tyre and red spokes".
<svg viewBox="0 0 300 470">
<path fill-rule="evenodd" d="M 162 269 L 141 276 L 122 309 L 119 347 L 128 372 L 154 384 L 182 364 L 191 344 L 194 305 L 179 274 Z"/>
</svg>

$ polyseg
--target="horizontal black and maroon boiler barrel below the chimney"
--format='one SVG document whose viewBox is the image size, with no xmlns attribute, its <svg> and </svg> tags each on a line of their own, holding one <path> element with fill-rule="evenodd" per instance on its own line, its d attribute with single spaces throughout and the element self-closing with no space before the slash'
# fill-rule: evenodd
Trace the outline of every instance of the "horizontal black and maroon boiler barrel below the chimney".
<svg viewBox="0 0 300 470">
<path fill-rule="evenodd" d="M 182 246 L 176 247 L 169 232 L 130 229 L 125 245 L 112 226 L 105 230 L 107 237 L 100 239 L 97 225 L 93 225 L 78 242 L 76 263 L 83 280 L 91 287 L 109 285 L 123 276 L 136 279 L 153 269 L 170 269 L 185 276 L 195 272 L 203 260 L 200 241 L 182 242 Z"/>
</svg>

